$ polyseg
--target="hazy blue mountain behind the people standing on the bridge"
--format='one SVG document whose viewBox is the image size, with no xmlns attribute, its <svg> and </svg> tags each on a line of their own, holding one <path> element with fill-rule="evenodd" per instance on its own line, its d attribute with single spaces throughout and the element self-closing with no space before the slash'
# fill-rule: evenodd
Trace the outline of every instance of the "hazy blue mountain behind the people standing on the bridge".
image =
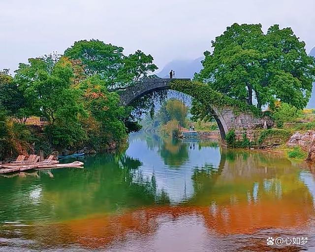
<svg viewBox="0 0 315 252">
<path fill-rule="evenodd" d="M 163 69 L 157 74 L 161 78 L 169 78 L 171 69 L 175 71 L 175 78 L 192 78 L 194 73 L 200 72 L 202 68 L 201 61 L 203 57 L 195 60 L 174 60 L 167 63 Z"/>
</svg>

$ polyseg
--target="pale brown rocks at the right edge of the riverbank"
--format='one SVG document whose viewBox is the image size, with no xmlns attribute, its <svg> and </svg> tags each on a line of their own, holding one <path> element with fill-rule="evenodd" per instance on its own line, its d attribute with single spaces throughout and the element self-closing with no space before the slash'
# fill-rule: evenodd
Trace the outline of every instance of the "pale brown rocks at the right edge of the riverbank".
<svg viewBox="0 0 315 252">
<path fill-rule="evenodd" d="M 288 146 L 300 146 L 308 153 L 306 160 L 315 161 L 315 130 L 308 130 L 304 133 L 295 132 L 289 139 Z"/>
</svg>

